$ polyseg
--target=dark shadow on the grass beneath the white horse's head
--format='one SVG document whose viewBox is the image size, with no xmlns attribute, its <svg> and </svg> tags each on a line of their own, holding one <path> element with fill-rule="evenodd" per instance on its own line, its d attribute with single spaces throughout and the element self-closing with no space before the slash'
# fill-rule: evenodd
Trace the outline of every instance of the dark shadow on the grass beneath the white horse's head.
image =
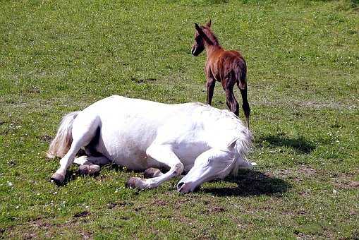
<svg viewBox="0 0 359 240">
<path fill-rule="evenodd" d="M 237 184 L 236 187 L 204 188 L 205 193 L 212 193 L 214 196 L 281 196 L 291 184 L 282 179 L 267 176 L 255 170 L 241 169 L 238 176 L 231 176 L 224 181 Z"/>
</svg>

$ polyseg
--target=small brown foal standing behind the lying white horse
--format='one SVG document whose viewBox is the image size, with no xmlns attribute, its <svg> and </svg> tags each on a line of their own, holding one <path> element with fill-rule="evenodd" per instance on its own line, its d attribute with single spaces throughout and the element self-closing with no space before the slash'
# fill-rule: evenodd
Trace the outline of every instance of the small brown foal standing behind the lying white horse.
<svg viewBox="0 0 359 240">
<path fill-rule="evenodd" d="M 234 97 L 233 87 L 237 84 L 242 95 L 242 108 L 245 120 L 249 128 L 250 107 L 247 100 L 247 66 L 243 56 L 236 51 L 226 51 L 219 44 L 217 37 L 211 30 L 211 20 L 199 26 L 195 23 L 195 43 L 192 47 L 192 54 L 198 56 L 204 49 L 207 52 L 205 74 L 207 78 L 207 104 L 212 103 L 214 85 L 216 81 L 221 82 L 226 91 L 226 104 L 238 116 L 239 104 Z"/>
</svg>

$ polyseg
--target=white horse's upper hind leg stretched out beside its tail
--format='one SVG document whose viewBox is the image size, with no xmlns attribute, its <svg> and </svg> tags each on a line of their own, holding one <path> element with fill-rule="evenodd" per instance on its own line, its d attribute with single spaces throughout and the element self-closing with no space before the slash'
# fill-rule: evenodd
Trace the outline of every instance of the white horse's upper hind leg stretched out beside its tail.
<svg viewBox="0 0 359 240">
<path fill-rule="evenodd" d="M 61 158 L 60 168 L 51 176 L 51 180 L 55 181 L 56 184 L 61 184 L 65 180 L 66 170 L 75 160 L 78 150 L 90 143 L 99 126 L 97 118 L 87 119 L 85 122 L 79 122 L 78 118 L 73 123 L 73 141 L 71 147 L 66 155 Z M 78 124 L 75 125 L 76 123 Z"/>
</svg>

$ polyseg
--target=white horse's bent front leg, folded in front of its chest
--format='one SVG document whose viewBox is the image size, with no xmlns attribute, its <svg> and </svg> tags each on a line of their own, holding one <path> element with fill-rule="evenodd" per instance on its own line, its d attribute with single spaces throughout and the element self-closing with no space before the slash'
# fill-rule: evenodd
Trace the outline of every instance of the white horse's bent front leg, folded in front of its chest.
<svg viewBox="0 0 359 240">
<path fill-rule="evenodd" d="M 164 181 L 168 181 L 174 176 L 179 176 L 183 172 L 183 164 L 171 150 L 170 145 L 151 145 L 146 150 L 147 156 L 153 160 L 170 167 L 169 172 L 152 179 L 141 179 L 139 177 L 131 177 L 126 186 L 133 188 L 156 188 Z"/>
</svg>

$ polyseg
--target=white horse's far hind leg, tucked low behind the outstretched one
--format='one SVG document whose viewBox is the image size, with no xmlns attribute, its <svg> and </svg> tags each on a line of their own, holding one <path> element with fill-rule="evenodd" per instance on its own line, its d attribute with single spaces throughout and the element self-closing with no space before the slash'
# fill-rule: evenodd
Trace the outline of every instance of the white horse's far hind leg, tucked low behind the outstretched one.
<svg viewBox="0 0 359 240">
<path fill-rule="evenodd" d="M 107 157 L 92 157 L 92 156 L 81 156 L 75 158 L 73 161 L 75 164 L 79 164 L 78 170 L 80 174 L 96 174 L 101 169 L 99 165 L 104 165 L 110 161 Z"/>
</svg>

